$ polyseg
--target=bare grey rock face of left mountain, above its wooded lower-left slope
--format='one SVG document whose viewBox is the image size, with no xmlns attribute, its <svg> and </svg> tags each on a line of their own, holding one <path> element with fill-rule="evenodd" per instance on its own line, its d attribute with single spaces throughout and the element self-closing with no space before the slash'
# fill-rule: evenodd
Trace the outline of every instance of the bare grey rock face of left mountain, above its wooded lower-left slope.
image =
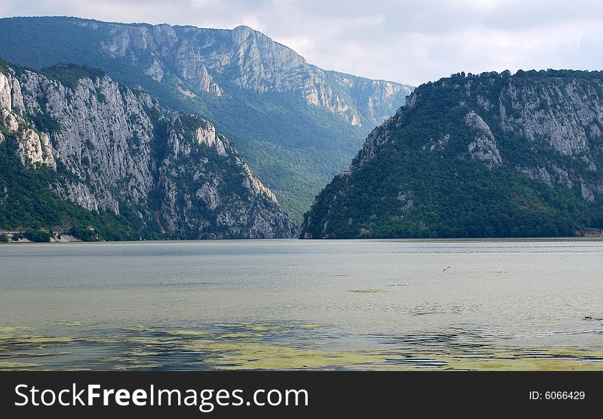
<svg viewBox="0 0 603 419">
<path fill-rule="evenodd" d="M 107 76 L 66 86 L 8 69 L 0 73 L 0 113 L 1 132 L 14 137 L 22 163 L 58 171 L 53 190 L 90 211 L 127 210 L 167 237 L 295 232 L 273 193 L 211 123 L 184 114 L 166 119 L 155 99 Z"/>
</svg>

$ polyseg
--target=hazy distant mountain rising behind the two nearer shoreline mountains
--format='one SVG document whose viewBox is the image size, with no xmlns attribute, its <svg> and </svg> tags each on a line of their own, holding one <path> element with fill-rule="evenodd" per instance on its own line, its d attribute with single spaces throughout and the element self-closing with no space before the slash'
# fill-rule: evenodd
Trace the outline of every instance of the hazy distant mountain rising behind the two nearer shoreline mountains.
<svg viewBox="0 0 603 419">
<path fill-rule="evenodd" d="M 412 88 L 325 71 L 249 27 L 0 19 L 0 56 L 88 64 L 215 123 L 298 221 Z"/>
</svg>

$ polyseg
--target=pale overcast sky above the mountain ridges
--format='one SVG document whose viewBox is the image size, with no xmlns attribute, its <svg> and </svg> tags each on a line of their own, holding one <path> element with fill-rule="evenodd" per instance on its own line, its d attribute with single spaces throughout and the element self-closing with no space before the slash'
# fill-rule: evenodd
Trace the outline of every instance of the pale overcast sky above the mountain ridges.
<svg viewBox="0 0 603 419">
<path fill-rule="evenodd" d="M 415 86 L 460 71 L 603 68 L 601 0 L 0 0 L 0 14 L 247 25 L 323 69 Z"/>
</svg>

